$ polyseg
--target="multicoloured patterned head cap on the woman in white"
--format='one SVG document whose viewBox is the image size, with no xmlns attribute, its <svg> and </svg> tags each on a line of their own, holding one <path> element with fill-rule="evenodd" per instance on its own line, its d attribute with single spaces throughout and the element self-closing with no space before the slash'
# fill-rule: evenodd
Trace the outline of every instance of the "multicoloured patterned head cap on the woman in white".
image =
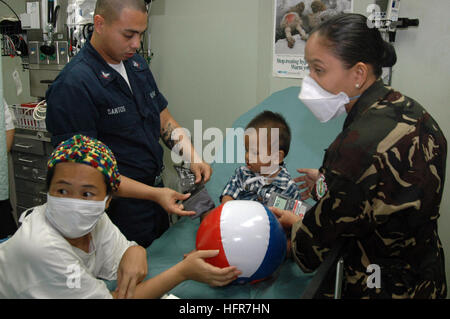
<svg viewBox="0 0 450 319">
<path fill-rule="evenodd" d="M 84 135 L 75 135 L 61 142 L 50 155 L 47 168 L 50 169 L 56 164 L 64 162 L 90 165 L 108 178 L 113 191 L 119 188 L 120 173 L 116 158 L 108 146 L 99 140 Z"/>
</svg>

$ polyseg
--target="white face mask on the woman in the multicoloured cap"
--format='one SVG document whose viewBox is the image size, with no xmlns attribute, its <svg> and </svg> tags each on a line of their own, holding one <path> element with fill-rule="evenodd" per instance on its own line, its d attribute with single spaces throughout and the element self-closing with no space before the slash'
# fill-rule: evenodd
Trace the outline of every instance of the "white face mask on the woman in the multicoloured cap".
<svg viewBox="0 0 450 319">
<path fill-rule="evenodd" d="M 47 194 L 47 220 L 64 237 L 73 239 L 90 233 L 105 212 L 102 201 L 55 197 Z"/>
</svg>

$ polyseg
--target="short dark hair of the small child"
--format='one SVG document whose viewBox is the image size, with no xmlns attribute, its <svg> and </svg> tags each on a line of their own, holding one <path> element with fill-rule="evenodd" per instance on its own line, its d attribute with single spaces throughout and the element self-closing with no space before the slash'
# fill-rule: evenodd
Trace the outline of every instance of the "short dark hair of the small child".
<svg viewBox="0 0 450 319">
<path fill-rule="evenodd" d="M 286 120 L 280 113 L 274 113 L 268 110 L 259 113 L 250 123 L 247 124 L 248 128 L 267 128 L 268 134 L 270 134 L 270 129 L 278 128 L 279 134 L 279 149 L 284 152 L 286 157 L 289 153 L 289 148 L 291 145 L 291 129 L 287 124 Z M 270 135 L 269 135 L 270 136 Z"/>
</svg>

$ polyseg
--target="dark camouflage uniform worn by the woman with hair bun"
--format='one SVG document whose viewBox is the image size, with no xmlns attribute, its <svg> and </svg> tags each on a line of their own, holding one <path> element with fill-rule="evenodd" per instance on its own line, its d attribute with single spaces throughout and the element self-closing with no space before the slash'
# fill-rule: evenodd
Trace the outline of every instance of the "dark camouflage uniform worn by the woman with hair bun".
<svg viewBox="0 0 450 319">
<path fill-rule="evenodd" d="M 445 298 L 437 219 L 446 156 L 430 114 L 375 82 L 326 150 L 320 172 L 328 190 L 293 227 L 294 259 L 314 271 L 346 237 L 343 298 Z M 381 269 L 381 288 L 367 286 L 370 264 Z M 333 291 L 331 280 L 322 296 Z"/>
</svg>

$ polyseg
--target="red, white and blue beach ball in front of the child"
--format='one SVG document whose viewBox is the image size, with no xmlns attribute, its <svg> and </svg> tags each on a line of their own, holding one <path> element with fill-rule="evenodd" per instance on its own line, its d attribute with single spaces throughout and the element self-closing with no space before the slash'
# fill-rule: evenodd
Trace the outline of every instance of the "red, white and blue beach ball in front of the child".
<svg viewBox="0 0 450 319">
<path fill-rule="evenodd" d="M 197 250 L 219 250 L 206 262 L 217 267 L 236 266 L 235 283 L 269 277 L 284 261 L 286 235 L 272 212 L 256 201 L 233 200 L 216 207 L 200 224 Z"/>
</svg>

